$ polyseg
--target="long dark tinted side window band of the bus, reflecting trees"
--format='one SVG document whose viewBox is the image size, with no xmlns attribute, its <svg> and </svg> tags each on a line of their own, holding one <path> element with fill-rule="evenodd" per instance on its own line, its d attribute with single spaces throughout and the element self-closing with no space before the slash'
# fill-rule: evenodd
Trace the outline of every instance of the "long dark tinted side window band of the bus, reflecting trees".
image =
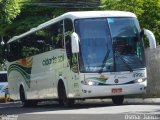
<svg viewBox="0 0 160 120">
<path fill-rule="evenodd" d="M 63 21 L 40 29 L 8 45 L 8 61 L 63 48 Z"/>
</svg>

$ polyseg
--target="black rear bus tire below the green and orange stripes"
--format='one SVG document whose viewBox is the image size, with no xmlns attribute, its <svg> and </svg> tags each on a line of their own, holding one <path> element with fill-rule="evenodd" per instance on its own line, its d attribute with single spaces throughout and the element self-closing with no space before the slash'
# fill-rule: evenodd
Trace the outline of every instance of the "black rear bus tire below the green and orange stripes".
<svg viewBox="0 0 160 120">
<path fill-rule="evenodd" d="M 22 107 L 33 107 L 37 105 L 37 101 L 28 101 L 25 97 L 24 88 L 20 87 L 20 100 L 22 102 Z"/>
</svg>

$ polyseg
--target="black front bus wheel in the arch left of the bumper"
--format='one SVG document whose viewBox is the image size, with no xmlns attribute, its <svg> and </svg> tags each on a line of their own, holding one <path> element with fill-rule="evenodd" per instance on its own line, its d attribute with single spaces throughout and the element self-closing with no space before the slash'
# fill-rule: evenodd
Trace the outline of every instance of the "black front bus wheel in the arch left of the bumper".
<svg viewBox="0 0 160 120">
<path fill-rule="evenodd" d="M 64 107 L 72 107 L 74 105 L 74 99 L 68 99 L 64 84 L 58 85 L 59 104 Z"/>
</svg>

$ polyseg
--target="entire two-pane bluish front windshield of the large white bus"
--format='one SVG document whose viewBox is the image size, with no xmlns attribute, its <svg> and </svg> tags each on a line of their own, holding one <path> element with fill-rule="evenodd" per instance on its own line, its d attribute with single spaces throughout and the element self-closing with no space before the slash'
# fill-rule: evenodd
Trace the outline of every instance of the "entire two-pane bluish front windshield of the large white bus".
<svg viewBox="0 0 160 120">
<path fill-rule="evenodd" d="M 136 18 L 89 18 L 75 21 L 80 38 L 81 72 L 132 71 L 145 67 Z"/>
</svg>

